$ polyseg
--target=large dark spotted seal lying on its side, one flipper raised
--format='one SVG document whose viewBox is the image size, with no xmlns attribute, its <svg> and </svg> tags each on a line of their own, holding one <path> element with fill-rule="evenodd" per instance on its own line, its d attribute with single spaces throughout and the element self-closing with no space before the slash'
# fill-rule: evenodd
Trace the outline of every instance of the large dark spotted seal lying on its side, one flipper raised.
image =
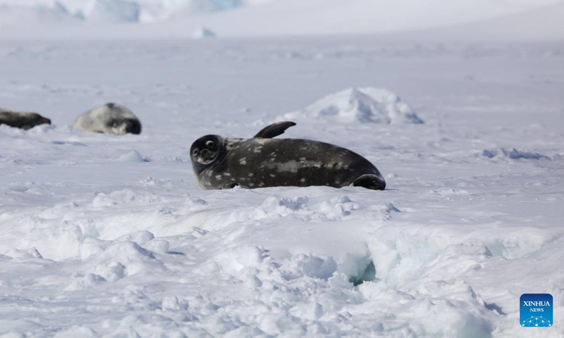
<svg viewBox="0 0 564 338">
<path fill-rule="evenodd" d="M 200 137 L 190 147 L 198 184 L 204 189 L 352 185 L 384 190 L 378 169 L 353 151 L 309 139 L 274 139 L 293 125 L 274 123 L 251 139 Z"/>
</svg>

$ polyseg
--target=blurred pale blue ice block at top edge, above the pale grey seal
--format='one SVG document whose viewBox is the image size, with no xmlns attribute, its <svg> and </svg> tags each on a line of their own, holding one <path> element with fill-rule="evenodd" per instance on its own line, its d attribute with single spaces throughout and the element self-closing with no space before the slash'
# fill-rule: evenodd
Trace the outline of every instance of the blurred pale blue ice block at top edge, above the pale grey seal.
<svg viewBox="0 0 564 338">
<path fill-rule="evenodd" d="M 123 0 L 92 0 L 82 12 L 88 21 L 98 23 L 137 23 L 140 6 Z"/>
</svg>

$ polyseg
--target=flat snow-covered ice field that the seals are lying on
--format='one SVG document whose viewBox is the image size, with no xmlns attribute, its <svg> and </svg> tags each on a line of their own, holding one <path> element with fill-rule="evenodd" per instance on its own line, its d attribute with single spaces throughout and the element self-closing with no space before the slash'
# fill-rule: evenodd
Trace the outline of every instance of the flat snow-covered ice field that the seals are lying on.
<svg viewBox="0 0 564 338">
<path fill-rule="evenodd" d="M 1 42 L 0 105 L 53 125 L 0 126 L 0 334 L 562 337 L 563 58 L 372 37 Z M 250 137 L 347 87 L 393 88 L 425 123 L 306 119 L 282 137 L 366 156 L 384 192 L 197 186 L 198 137 Z M 111 101 L 142 134 L 71 129 Z M 520 327 L 524 293 L 553 295 L 553 327 Z"/>
</svg>

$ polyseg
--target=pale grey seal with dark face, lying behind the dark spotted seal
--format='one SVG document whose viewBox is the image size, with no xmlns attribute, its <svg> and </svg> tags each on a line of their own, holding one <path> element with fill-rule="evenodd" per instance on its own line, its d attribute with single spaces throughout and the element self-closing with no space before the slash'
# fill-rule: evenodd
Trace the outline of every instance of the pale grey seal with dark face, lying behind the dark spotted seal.
<svg viewBox="0 0 564 338">
<path fill-rule="evenodd" d="M 140 134 L 141 122 L 127 107 L 109 103 L 78 115 L 73 128 L 104 134 Z"/>
</svg>

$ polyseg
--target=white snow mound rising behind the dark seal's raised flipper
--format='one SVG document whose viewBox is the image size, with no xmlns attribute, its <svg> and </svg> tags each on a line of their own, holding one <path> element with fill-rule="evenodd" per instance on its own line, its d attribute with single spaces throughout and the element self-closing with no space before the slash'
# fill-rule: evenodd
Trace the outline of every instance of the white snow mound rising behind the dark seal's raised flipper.
<svg viewBox="0 0 564 338">
<path fill-rule="evenodd" d="M 417 114 L 388 89 L 349 88 L 315 101 L 302 112 L 284 118 L 316 118 L 338 123 L 424 123 Z"/>
</svg>

